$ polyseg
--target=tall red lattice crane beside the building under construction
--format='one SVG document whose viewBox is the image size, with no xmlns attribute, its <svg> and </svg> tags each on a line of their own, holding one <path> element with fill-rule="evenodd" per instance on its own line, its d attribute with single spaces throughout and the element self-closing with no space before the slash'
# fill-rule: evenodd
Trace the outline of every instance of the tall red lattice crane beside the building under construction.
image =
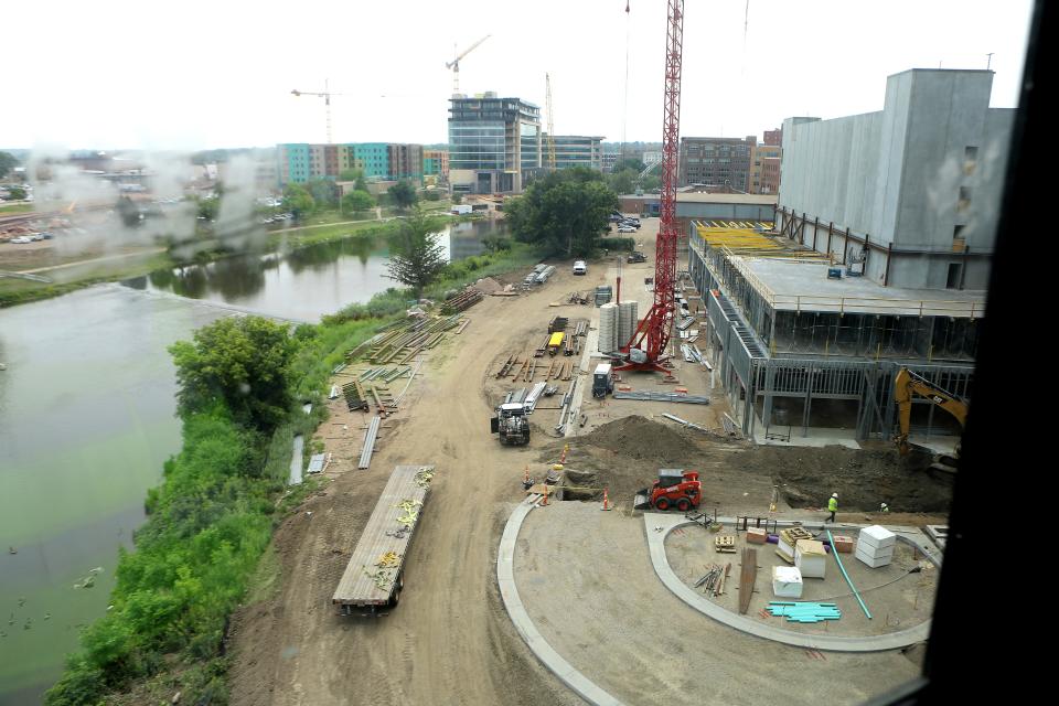
<svg viewBox="0 0 1059 706">
<path fill-rule="evenodd" d="M 681 133 L 681 64 L 684 44 L 684 0 L 668 0 L 665 34 L 665 107 L 662 127 L 661 224 L 655 244 L 654 304 L 621 346 L 629 362 L 618 370 L 662 371 L 673 331 L 676 285 L 676 168 Z"/>
</svg>

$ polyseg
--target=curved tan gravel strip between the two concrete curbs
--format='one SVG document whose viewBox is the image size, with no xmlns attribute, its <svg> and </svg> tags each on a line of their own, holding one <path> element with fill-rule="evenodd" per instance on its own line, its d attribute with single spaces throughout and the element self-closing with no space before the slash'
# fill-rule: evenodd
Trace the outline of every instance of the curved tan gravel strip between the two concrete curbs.
<svg viewBox="0 0 1059 706">
<path fill-rule="evenodd" d="M 812 654 L 710 620 L 655 576 L 643 520 L 596 503 L 533 511 L 515 582 L 548 643 L 628 704 L 859 704 L 919 674 L 899 651 Z"/>
</svg>

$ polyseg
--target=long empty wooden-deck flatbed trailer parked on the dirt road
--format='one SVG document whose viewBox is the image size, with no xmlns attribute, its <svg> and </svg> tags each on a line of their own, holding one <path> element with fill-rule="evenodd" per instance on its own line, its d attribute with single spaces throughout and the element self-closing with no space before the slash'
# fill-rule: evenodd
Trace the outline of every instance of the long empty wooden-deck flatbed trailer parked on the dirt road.
<svg viewBox="0 0 1059 706">
<path fill-rule="evenodd" d="M 434 466 L 398 466 L 331 598 L 343 616 L 379 616 L 400 600 L 405 558 L 430 492 Z"/>
</svg>

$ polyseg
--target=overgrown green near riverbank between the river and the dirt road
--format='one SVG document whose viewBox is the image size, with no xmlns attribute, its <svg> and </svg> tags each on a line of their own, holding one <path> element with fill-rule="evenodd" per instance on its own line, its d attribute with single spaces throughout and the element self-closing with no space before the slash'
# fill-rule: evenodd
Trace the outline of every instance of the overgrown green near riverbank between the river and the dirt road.
<svg viewBox="0 0 1059 706">
<path fill-rule="evenodd" d="M 459 260 L 426 293 L 440 299 L 468 281 L 536 260 L 534 250 L 518 244 Z M 271 533 L 312 492 L 311 484 L 286 488 L 293 439 L 309 439 L 325 420 L 323 392 L 334 366 L 402 318 L 410 298 L 409 290 L 391 289 L 292 332 L 253 317 L 218 322 L 229 329 L 259 325 L 271 340 L 282 339 L 271 349 L 220 334 L 196 334 L 201 363 L 189 363 L 186 353 L 172 349 L 179 361 L 183 448 L 165 463 L 162 484 L 148 493 L 148 520 L 136 532 L 136 550 L 120 555 L 111 608 L 84 630 L 82 649 L 68 657 L 47 704 L 168 703 L 176 692 L 182 703 L 227 703 L 227 617 L 248 593 L 276 586 Z M 265 360 L 258 357 L 263 350 Z M 282 370 L 276 383 L 227 379 L 237 389 L 245 385 L 252 397 L 272 389 L 271 397 L 231 402 L 211 385 L 193 384 L 195 375 L 214 375 L 232 355 L 248 356 L 234 368 Z M 281 418 L 263 429 L 248 421 L 253 413 L 247 409 L 272 404 L 277 384 L 288 391 L 288 403 Z M 306 402 L 312 403 L 310 414 L 302 409 Z M 307 443 L 304 454 L 311 450 Z"/>
</svg>

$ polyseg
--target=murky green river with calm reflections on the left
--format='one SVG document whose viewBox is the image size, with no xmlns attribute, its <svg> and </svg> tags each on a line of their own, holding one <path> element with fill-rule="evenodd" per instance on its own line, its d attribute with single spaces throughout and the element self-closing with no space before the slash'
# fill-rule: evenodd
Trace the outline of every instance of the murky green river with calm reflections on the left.
<svg viewBox="0 0 1059 706">
<path fill-rule="evenodd" d="M 474 255 L 502 227 L 454 224 L 441 243 Z M 106 612 L 117 549 L 180 449 L 167 346 L 232 310 L 319 321 L 392 287 L 385 260 L 329 242 L 0 310 L 0 706 L 39 703 Z"/>
</svg>

